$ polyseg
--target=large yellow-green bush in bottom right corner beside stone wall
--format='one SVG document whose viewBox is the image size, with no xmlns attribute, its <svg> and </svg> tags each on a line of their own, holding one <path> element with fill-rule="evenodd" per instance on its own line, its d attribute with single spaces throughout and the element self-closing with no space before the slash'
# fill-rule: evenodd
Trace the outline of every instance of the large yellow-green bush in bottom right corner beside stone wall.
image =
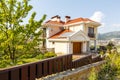
<svg viewBox="0 0 120 80">
<path fill-rule="evenodd" d="M 98 72 L 92 71 L 88 80 L 120 80 L 120 54 L 109 54 Z"/>
</svg>

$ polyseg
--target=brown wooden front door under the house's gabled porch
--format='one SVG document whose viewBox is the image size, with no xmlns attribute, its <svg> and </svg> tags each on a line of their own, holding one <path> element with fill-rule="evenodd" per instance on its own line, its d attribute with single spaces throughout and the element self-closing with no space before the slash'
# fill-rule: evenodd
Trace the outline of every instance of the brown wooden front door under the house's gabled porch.
<svg viewBox="0 0 120 80">
<path fill-rule="evenodd" d="M 80 54 L 82 50 L 81 42 L 73 42 L 73 54 Z"/>
</svg>

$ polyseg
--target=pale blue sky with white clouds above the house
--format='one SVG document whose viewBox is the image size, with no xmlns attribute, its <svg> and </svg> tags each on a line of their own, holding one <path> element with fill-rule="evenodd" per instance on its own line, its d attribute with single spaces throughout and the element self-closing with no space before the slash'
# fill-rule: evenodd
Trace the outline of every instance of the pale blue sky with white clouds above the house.
<svg viewBox="0 0 120 80">
<path fill-rule="evenodd" d="M 47 15 L 49 20 L 55 15 L 74 18 L 90 18 L 100 22 L 99 33 L 120 31 L 120 0 L 31 0 L 36 20 Z"/>
</svg>

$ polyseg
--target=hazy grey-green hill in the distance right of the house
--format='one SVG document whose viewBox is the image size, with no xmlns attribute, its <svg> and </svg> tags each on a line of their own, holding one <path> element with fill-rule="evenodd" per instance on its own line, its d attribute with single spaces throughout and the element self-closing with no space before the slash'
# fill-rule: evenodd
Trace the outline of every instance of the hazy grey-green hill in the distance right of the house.
<svg viewBox="0 0 120 80">
<path fill-rule="evenodd" d="M 98 40 L 109 40 L 112 38 L 120 38 L 120 31 L 113 31 L 113 32 L 98 34 Z"/>
</svg>

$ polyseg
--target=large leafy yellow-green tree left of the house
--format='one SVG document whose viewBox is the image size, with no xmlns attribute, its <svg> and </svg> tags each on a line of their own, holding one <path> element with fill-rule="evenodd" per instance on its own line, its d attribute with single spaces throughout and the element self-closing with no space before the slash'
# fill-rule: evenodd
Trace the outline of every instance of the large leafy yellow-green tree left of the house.
<svg viewBox="0 0 120 80">
<path fill-rule="evenodd" d="M 23 54 L 33 52 L 42 41 L 42 19 L 36 21 L 33 12 L 28 23 L 23 24 L 32 6 L 30 0 L 0 0 L 0 56 L 13 63 Z M 4 56 L 4 57 L 3 57 Z"/>
</svg>

